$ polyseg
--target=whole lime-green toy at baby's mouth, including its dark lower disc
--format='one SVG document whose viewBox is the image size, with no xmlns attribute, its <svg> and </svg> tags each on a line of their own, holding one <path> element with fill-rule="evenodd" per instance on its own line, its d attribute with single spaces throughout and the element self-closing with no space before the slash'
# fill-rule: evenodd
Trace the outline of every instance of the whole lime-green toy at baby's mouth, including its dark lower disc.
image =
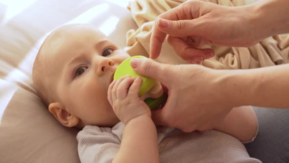
<svg viewBox="0 0 289 163">
<path fill-rule="evenodd" d="M 145 77 L 133 70 L 133 68 L 130 66 L 130 60 L 132 58 L 146 58 L 145 56 L 137 55 L 137 56 L 132 56 L 127 59 L 125 59 L 123 62 L 120 63 L 119 67 L 116 69 L 115 75 L 114 75 L 114 80 L 118 80 L 123 76 L 129 75 L 131 77 L 141 77 L 143 80 L 143 83 L 140 88 L 139 96 L 144 95 L 146 92 L 148 92 L 155 84 L 155 80 L 153 78 Z M 163 104 L 166 99 L 167 95 L 163 94 L 159 98 L 147 98 L 145 99 L 145 104 L 150 108 L 150 109 L 157 109 L 158 107 Z"/>
</svg>

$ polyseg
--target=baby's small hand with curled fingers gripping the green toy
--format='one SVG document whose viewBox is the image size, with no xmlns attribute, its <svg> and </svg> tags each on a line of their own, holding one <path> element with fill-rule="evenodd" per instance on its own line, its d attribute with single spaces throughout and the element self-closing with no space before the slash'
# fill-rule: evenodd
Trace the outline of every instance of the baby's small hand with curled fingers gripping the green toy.
<svg viewBox="0 0 289 163">
<path fill-rule="evenodd" d="M 139 98 L 142 79 L 125 76 L 113 81 L 108 87 L 107 98 L 120 121 L 127 124 L 133 118 L 147 114 L 151 117 L 148 106 Z"/>
</svg>

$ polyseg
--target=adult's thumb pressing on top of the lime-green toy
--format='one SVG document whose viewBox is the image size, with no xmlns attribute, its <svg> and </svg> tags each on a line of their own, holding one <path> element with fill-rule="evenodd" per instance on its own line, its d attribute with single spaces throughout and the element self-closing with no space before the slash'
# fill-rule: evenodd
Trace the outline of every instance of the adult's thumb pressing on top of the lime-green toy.
<svg viewBox="0 0 289 163">
<path fill-rule="evenodd" d="M 170 79 L 171 74 L 167 64 L 158 63 L 148 58 L 133 58 L 130 65 L 140 75 L 154 78 L 165 85 Z"/>
</svg>

